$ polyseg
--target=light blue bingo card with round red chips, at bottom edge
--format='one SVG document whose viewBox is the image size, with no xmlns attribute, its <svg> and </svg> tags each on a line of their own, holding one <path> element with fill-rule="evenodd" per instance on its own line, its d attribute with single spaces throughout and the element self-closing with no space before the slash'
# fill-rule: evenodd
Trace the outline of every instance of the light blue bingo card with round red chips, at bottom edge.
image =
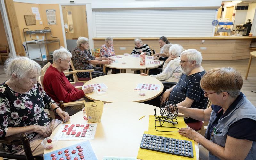
<svg viewBox="0 0 256 160">
<path fill-rule="evenodd" d="M 44 154 L 44 160 L 95 160 L 97 159 L 90 142 L 84 141 L 66 148 Z"/>
</svg>

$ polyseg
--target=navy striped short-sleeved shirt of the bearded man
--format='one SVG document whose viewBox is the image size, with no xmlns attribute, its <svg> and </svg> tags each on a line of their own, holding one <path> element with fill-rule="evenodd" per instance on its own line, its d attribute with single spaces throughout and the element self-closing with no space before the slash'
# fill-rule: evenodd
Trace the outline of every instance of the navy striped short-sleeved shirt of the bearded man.
<svg viewBox="0 0 256 160">
<path fill-rule="evenodd" d="M 180 103 L 185 100 L 186 97 L 194 100 L 190 108 L 206 109 L 207 97 L 204 97 L 204 91 L 200 87 L 200 80 L 205 71 L 198 72 L 192 75 L 182 74 L 180 81 L 173 88 L 169 100 Z M 192 118 L 184 118 L 185 122 L 196 122 Z"/>
</svg>

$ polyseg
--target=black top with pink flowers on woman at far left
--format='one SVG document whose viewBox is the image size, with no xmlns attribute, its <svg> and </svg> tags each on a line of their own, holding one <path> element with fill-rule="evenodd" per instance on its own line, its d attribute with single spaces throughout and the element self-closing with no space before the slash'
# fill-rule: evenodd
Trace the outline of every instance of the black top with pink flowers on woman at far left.
<svg viewBox="0 0 256 160">
<path fill-rule="evenodd" d="M 52 118 L 44 112 L 44 108 L 50 109 L 54 101 L 39 83 L 28 93 L 20 94 L 9 88 L 5 82 L 0 84 L 0 137 L 5 137 L 8 127 L 50 124 Z M 36 135 L 36 132 L 28 134 L 29 140 Z M 3 148 L 15 154 L 22 146 L 3 144 Z"/>
</svg>

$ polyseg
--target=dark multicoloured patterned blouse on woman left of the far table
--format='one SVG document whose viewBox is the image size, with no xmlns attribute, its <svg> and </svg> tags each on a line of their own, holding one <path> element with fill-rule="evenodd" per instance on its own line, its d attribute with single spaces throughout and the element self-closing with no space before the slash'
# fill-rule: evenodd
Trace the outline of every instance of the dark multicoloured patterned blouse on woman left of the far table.
<svg viewBox="0 0 256 160">
<path fill-rule="evenodd" d="M 93 57 L 87 50 L 82 51 L 76 47 L 71 53 L 71 59 L 76 70 L 93 69 L 93 66 L 89 62 L 95 60 L 95 57 Z"/>
</svg>

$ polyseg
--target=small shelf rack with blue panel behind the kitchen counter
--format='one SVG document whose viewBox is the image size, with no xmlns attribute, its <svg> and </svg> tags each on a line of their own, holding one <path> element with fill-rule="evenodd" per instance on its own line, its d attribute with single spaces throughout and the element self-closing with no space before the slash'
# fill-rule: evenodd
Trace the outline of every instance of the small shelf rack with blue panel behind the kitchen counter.
<svg viewBox="0 0 256 160">
<path fill-rule="evenodd" d="M 235 21 L 234 18 L 219 18 L 218 24 L 216 25 L 216 28 L 215 28 L 214 36 L 218 36 L 217 34 L 222 33 L 222 32 L 228 33 L 228 35 L 231 36 L 229 33 L 231 33 L 231 31 L 233 29 L 234 21 Z M 219 29 L 219 27 L 223 27 L 223 26 L 225 26 L 225 27 L 230 26 L 230 28 L 229 29 Z"/>
</svg>

